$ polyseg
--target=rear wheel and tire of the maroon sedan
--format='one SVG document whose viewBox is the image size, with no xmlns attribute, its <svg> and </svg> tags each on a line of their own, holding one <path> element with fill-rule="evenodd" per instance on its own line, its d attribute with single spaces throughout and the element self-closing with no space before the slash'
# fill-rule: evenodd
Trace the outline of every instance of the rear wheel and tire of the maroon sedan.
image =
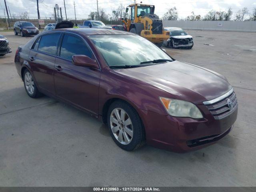
<svg viewBox="0 0 256 192">
<path fill-rule="evenodd" d="M 29 70 L 24 70 L 23 74 L 24 87 L 28 96 L 30 96 L 31 98 L 38 98 L 42 96 L 42 94 L 38 91 L 36 83 L 34 82 L 34 78 L 32 77 Z"/>
</svg>

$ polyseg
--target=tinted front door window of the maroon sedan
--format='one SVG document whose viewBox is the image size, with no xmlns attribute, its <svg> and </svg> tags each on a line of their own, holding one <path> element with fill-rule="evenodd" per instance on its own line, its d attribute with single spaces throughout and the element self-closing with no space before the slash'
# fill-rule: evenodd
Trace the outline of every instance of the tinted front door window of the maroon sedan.
<svg viewBox="0 0 256 192">
<path fill-rule="evenodd" d="M 73 55 L 86 55 L 92 58 L 92 52 L 81 38 L 65 34 L 62 40 L 60 56 L 72 60 Z"/>
</svg>

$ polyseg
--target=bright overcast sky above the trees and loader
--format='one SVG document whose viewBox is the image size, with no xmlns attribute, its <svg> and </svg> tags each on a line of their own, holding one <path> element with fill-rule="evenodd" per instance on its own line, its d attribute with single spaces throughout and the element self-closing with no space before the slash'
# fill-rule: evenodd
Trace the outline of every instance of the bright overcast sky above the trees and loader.
<svg viewBox="0 0 256 192">
<path fill-rule="evenodd" d="M 51 17 L 54 13 L 53 7 L 58 4 L 62 7 L 62 15 L 64 16 L 64 0 L 39 0 L 39 11 L 41 18 Z M 96 0 L 65 0 L 66 12 L 68 18 L 74 18 L 74 2 L 76 4 L 76 17 L 88 18 L 90 11 L 97 10 Z M 117 8 L 120 3 L 124 6 L 132 4 L 132 0 L 98 0 L 99 8 L 105 10 L 107 14 L 111 14 L 112 9 Z M 140 2 L 140 1 L 136 1 Z M 30 17 L 36 17 L 36 0 L 6 0 L 7 6 L 10 8 L 11 14 L 19 16 L 21 12 L 29 12 Z M 185 18 L 194 13 L 204 16 L 208 11 L 214 9 L 217 11 L 225 11 L 232 8 L 234 14 L 243 7 L 247 7 L 249 12 L 256 7 L 256 0 L 147 0 L 142 1 L 144 4 L 154 4 L 156 6 L 155 13 L 162 18 L 168 8 L 176 6 L 178 9 L 178 18 Z M 4 0 L 0 0 L 0 16 L 4 16 L 5 8 Z"/>
</svg>

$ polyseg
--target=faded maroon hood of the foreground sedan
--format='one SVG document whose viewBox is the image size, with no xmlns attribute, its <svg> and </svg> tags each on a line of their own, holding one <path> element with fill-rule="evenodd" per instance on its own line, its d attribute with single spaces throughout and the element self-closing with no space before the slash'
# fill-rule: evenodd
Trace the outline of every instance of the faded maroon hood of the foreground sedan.
<svg viewBox="0 0 256 192">
<path fill-rule="evenodd" d="M 115 72 L 160 88 L 172 94 L 172 98 L 198 104 L 217 98 L 232 88 L 224 76 L 206 68 L 179 61 L 118 69 Z"/>
</svg>

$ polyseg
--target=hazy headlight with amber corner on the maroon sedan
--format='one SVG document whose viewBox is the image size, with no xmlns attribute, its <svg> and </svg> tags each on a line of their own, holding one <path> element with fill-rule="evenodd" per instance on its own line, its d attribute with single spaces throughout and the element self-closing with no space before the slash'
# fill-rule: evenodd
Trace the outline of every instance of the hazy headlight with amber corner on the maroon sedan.
<svg viewBox="0 0 256 192">
<path fill-rule="evenodd" d="M 200 110 L 191 102 L 160 97 L 160 101 L 171 116 L 203 118 Z"/>
</svg>

